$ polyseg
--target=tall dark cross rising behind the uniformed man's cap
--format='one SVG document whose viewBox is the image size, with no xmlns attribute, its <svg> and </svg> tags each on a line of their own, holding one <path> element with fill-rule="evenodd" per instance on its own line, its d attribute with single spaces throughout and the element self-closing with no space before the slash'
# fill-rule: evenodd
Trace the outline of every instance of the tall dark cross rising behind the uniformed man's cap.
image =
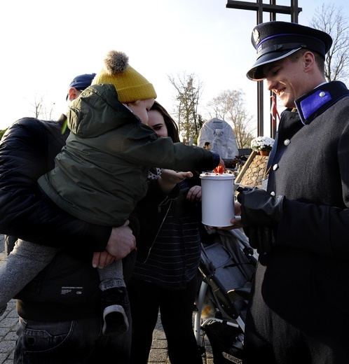
<svg viewBox="0 0 349 364">
<path fill-rule="evenodd" d="M 249 1 L 227 0 L 226 7 L 242 10 L 254 10 L 257 15 L 257 25 L 263 22 L 263 13 L 271 14 L 271 21 L 276 20 L 276 14 L 290 14 L 291 22 L 298 22 L 298 15 L 302 8 L 298 7 L 298 0 L 290 0 L 291 6 L 276 5 L 276 0 L 270 0 L 270 3 L 263 3 L 263 0 L 256 0 L 255 3 Z M 263 115 L 263 81 L 257 81 L 257 101 L 258 101 L 258 118 L 257 118 L 257 136 L 264 135 L 264 115 Z M 271 105 L 272 105 L 271 99 Z M 271 137 L 275 139 L 276 135 L 276 115 L 271 116 Z"/>
</svg>

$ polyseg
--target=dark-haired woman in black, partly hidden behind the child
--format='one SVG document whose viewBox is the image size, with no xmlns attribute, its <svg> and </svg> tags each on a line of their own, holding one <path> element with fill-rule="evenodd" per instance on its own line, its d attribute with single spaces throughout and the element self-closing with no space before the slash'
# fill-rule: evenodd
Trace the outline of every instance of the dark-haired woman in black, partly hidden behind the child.
<svg viewBox="0 0 349 364">
<path fill-rule="evenodd" d="M 179 141 L 178 129 L 167 111 L 154 102 L 148 125 L 160 137 Z M 139 249 L 128 283 L 132 314 L 131 364 L 146 364 L 160 310 L 172 364 L 202 364 L 193 332 L 197 271 L 200 262 L 201 187 L 198 174 L 183 179 L 164 170 L 139 202 Z M 164 192 L 161 180 L 168 182 Z M 178 186 L 177 186 L 177 183 Z M 178 195 L 179 193 L 179 195 Z M 145 249 L 145 247 L 149 248 Z"/>
</svg>

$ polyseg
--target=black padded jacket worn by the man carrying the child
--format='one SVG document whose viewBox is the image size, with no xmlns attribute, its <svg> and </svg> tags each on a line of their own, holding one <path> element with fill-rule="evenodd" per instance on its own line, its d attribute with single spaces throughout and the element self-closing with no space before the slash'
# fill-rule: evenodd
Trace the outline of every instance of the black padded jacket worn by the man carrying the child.
<svg viewBox="0 0 349 364">
<path fill-rule="evenodd" d="M 104 250 L 111 233 L 107 226 L 85 223 L 65 213 L 38 188 L 37 180 L 53 169 L 55 155 L 69 134 L 69 130 L 62 133 L 64 119 L 20 119 L 0 142 L 0 233 L 62 247 L 55 260 L 16 296 L 20 316 L 36 321 L 98 313 L 100 280 L 91 258 L 93 251 Z M 130 217 L 130 227 L 137 236 L 137 219 Z M 13 244 L 14 239 L 6 240 Z M 135 253 L 131 253 L 123 260 L 126 280 L 134 259 Z"/>
</svg>

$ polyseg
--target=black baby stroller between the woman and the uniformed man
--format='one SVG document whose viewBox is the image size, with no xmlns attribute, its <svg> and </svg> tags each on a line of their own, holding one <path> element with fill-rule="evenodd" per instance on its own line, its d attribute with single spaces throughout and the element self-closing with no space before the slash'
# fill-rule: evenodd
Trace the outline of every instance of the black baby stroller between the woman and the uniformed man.
<svg viewBox="0 0 349 364">
<path fill-rule="evenodd" d="M 214 364 L 242 363 L 245 312 L 255 269 L 254 250 L 240 230 L 205 228 L 194 331 L 203 351 L 207 335 Z"/>
</svg>

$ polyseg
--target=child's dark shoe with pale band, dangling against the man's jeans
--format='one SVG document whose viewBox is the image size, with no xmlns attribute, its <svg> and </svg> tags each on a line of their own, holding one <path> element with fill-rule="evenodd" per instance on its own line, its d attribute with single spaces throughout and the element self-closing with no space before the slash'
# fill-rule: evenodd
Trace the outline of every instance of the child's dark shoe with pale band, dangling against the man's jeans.
<svg viewBox="0 0 349 364">
<path fill-rule="evenodd" d="M 128 330 L 128 317 L 123 308 L 125 292 L 125 287 L 109 288 L 102 291 L 104 320 L 102 332 L 104 335 L 121 335 Z"/>
</svg>

